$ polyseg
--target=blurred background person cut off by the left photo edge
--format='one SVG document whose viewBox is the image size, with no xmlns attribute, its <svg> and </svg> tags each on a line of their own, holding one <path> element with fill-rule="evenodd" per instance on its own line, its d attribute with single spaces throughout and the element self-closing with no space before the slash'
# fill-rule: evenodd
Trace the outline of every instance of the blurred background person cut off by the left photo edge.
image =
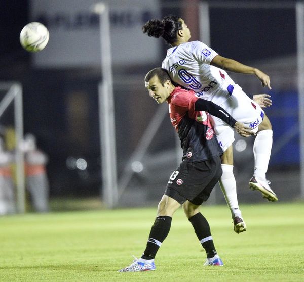
<svg viewBox="0 0 304 282">
<path fill-rule="evenodd" d="M 12 179 L 13 154 L 5 149 L 0 138 L 0 215 L 16 212 L 15 185 Z"/>
</svg>

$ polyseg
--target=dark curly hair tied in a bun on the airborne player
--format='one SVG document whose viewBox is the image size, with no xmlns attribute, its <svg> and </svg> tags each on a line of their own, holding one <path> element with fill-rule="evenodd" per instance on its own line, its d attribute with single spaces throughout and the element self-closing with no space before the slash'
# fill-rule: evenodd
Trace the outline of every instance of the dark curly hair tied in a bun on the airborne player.
<svg viewBox="0 0 304 282">
<path fill-rule="evenodd" d="M 143 33 L 147 33 L 152 37 L 163 37 L 168 44 L 172 44 L 177 40 L 177 32 L 182 29 L 180 17 L 169 15 L 162 21 L 158 19 L 149 20 L 143 27 Z"/>
</svg>

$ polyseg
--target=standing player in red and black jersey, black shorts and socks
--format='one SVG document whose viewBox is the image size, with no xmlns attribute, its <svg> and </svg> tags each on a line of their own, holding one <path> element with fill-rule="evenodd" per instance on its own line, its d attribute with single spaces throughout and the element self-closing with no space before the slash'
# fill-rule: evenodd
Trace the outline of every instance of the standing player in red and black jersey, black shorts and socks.
<svg viewBox="0 0 304 282">
<path fill-rule="evenodd" d="M 169 178 L 143 255 L 119 272 L 156 269 L 154 258 L 168 236 L 174 212 L 181 205 L 206 251 L 207 260 L 204 265 L 222 266 L 209 223 L 199 210 L 222 175 L 222 150 L 214 134 L 209 113 L 225 121 L 244 137 L 254 133 L 213 102 L 196 97 L 194 91 L 174 86 L 169 74 L 162 68 L 147 73 L 145 86 L 150 97 L 158 104 L 165 101 L 169 104 L 171 123 L 179 135 L 183 157 Z"/>
</svg>

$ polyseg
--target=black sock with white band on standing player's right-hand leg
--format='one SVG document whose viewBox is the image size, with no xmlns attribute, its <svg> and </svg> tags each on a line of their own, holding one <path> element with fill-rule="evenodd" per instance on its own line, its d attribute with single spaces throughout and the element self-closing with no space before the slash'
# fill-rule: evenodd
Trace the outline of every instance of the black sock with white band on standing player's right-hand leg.
<svg viewBox="0 0 304 282">
<path fill-rule="evenodd" d="M 212 258 L 216 255 L 216 250 L 213 244 L 210 226 L 207 219 L 199 212 L 189 218 L 198 239 L 206 251 L 207 258 Z"/>
</svg>

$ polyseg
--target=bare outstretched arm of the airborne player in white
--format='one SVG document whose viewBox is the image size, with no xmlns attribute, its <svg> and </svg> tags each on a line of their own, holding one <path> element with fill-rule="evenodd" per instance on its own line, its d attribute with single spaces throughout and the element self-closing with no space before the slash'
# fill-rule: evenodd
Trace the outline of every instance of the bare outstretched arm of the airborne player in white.
<svg viewBox="0 0 304 282">
<path fill-rule="evenodd" d="M 271 89 L 270 77 L 257 68 L 246 66 L 235 60 L 225 58 L 220 55 L 216 55 L 212 59 L 210 65 L 237 73 L 254 74 L 261 81 L 263 87 L 267 86 L 269 89 Z"/>
</svg>

